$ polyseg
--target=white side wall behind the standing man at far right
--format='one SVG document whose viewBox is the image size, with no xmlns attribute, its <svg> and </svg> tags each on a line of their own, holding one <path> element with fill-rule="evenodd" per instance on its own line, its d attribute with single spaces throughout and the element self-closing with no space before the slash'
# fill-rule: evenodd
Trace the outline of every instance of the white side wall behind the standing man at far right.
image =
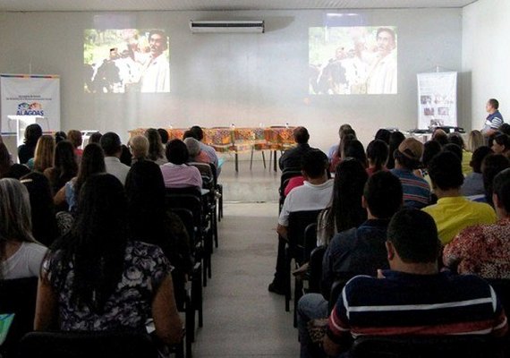
<svg viewBox="0 0 510 358">
<path fill-rule="evenodd" d="M 473 129 L 480 129 L 489 98 L 499 100 L 501 113 L 510 119 L 510 2 L 479 0 L 463 9 L 463 72 L 470 73 L 464 112 L 471 116 Z"/>
</svg>

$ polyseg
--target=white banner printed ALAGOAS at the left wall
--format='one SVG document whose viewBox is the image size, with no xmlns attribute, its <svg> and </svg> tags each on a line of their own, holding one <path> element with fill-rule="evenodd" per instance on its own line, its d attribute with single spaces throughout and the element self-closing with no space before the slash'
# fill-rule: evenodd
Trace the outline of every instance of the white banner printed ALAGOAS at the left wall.
<svg viewBox="0 0 510 358">
<path fill-rule="evenodd" d="M 60 130 L 60 78 L 56 75 L 0 74 L 2 134 L 16 135 L 37 123 L 44 132 Z"/>
</svg>

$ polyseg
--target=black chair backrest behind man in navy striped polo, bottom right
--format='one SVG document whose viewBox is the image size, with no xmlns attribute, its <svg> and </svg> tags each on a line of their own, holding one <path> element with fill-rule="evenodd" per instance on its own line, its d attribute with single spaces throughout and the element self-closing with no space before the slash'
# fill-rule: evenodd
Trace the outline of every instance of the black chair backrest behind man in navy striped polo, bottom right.
<svg viewBox="0 0 510 358">
<path fill-rule="evenodd" d="M 489 358 L 502 345 L 489 336 L 370 336 L 354 340 L 352 358 Z"/>
</svg>

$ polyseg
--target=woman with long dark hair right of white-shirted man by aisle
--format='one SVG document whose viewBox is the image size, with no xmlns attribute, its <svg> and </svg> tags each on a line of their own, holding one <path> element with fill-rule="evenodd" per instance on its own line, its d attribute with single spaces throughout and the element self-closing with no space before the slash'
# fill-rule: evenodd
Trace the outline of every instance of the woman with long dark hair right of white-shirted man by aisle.
<svg viewBox="0 0 510 358">
<path fill-rule="evenodd" d="M 331 203 L 319 214 L 317 244 L 328 244 L 336 233 L 358 227 L 367 218 L 361 206 L 367 172 L 358 160 L 345 159 L 336 166 Z"/>
</svg>

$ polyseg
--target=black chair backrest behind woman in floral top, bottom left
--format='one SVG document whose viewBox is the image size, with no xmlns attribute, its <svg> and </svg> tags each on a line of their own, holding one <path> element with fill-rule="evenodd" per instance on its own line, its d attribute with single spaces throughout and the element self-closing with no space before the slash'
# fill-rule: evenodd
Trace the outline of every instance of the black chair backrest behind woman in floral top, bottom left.
<svg viewBox="0 0 510 358">
<path fill-rule="evenodd" d="M 21 339 L 20 357 L 157 358 L 157 348 L 140 332 L 30 332 Z"/>
</svg>

